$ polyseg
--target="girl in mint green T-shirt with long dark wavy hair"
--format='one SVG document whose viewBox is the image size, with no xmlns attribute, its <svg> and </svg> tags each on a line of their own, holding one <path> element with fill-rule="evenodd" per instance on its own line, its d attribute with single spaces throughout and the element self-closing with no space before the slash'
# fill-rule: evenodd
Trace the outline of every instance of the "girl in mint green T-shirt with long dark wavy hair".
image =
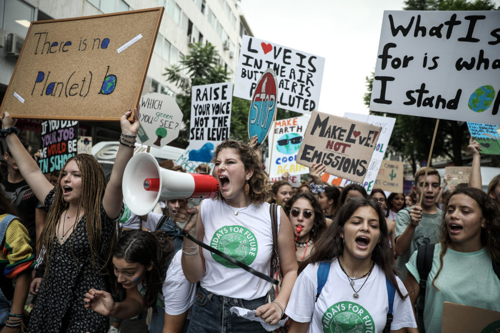
<svg viewBox="0 0 500 333">
<path fill-rule="evenodd" d="M 457 188 L 448 199 L 441 239 L 434 246 L 427 277 L 423 323 L 425 332 L 440 332 L 443 302 L 500 311 L 500 210 L 479 189 Z M 404 280 L 411 302 L 420 292 L 417 252 L 410 257 Z"/>
</svg>

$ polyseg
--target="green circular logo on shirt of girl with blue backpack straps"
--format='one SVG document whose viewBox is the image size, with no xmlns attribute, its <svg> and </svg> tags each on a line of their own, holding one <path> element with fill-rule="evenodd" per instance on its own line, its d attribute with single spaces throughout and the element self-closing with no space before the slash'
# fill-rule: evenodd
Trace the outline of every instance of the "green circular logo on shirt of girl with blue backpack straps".
<svg viewBox="0 0 500 333">
<path fill-rule="evenodd" d="M 375 332 L 375 323 L 370 314 L 352 302 L 339 302 L 329 307 L 323 314 L 321 324 L 324 333 Z"/>
</svg>

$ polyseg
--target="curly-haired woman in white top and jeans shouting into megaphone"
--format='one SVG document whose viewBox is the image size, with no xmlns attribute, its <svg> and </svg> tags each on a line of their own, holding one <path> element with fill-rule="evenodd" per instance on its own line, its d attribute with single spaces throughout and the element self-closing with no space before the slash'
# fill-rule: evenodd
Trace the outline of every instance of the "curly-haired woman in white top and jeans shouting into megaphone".
<svg viewBox="0 0 500 333">
<path fill-rule="evenodd" d="M 272 230 L 269 181 L 252 148 L 242 141 L 220 143 L 213 154 L 213 176 L 220 185 L 216 198 L 197 208 L 180 207 L 175 222 L 188 221 L 184 231 L 259 272 L 269 272 Z M 256 309 L 255 317 L 275 325 L 297 276 L 290 222 L 278 209 L 278 254 L 283 273 L 281 291 L 266 303 L 269 283 L 233 265 L 184 237 L 182 269 L 191 283 L 199 281 L 187 332 L 266 332 L 259 322 L 230 313 L 233 306 Z"/>
</svg>

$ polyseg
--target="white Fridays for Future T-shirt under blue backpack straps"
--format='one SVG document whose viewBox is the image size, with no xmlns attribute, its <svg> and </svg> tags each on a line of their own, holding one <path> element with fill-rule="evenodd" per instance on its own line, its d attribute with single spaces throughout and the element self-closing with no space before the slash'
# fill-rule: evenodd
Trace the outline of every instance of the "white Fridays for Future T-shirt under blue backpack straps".
<svg viewBox="0 0 500 333">
<path fill-rule="evenodd" d="M 300 273 L 285 313 L 299 323 L 309 322 L 308 333 L 318 332 L 382 332 L 387 320 L 388 297 L 385 274 L 375 265 L 367 278 L 354 282 L 359 298 L 355 300 L 347 276 L 341 271 L 338 261 L 331 263 L 328 279 L 319 295 L 317 293 L 318 263 L 309 264 Z M 406 295 L 406 289 L 396 277 L 399 290 Z M 405 327 L 416 328 L 409 297 L 401 300 L 395 292 L 392 307 L 391 330 Z M 351 331 L 352 330 L 352 331 Z"/>
</svg>

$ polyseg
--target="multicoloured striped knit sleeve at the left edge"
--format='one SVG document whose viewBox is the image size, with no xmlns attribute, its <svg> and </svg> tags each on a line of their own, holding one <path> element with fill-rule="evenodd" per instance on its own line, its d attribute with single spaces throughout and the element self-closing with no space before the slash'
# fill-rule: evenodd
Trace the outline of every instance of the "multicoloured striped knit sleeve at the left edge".
<svg viewBox="0 0 500 333">
<path fill-rule="evenodd" d="M 8 263 L 3 275 L 12 279 L 26 270 L 31 271 L 35 264 L 33 251 L 29 246 L 28 232 L 19 220 L 10 222 L 4 240 L 1 260 L 6 260 Z"/>
</svg>

